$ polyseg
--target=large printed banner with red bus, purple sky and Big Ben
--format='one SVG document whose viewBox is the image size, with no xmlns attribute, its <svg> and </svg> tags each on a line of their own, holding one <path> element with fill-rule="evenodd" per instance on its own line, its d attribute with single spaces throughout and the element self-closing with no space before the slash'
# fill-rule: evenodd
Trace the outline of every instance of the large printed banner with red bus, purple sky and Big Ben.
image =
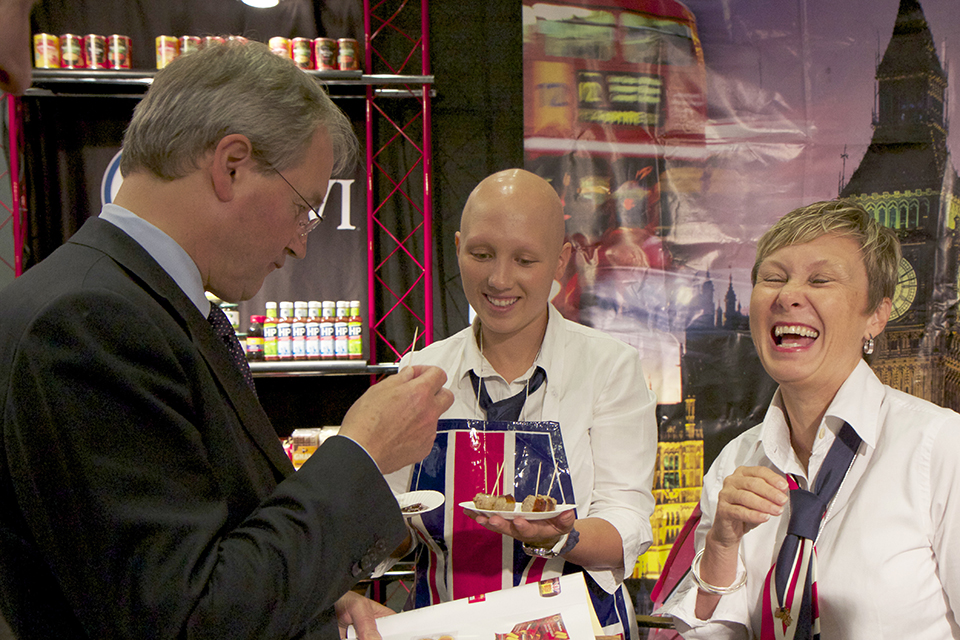
<svg viewBox="0 0 960 640">
<path fill-rule="evenodd" d="M 747 310 L 756 241 L 788 211 L 849 197 L 896 230 L 869 362 L 960 409 L 954 0 L 523 0 L 523 38 L 525 163 L 574 247 L 554 303 L 636 346 L 659 398 L 643 589 L 775 390 Z"/>
</svg>

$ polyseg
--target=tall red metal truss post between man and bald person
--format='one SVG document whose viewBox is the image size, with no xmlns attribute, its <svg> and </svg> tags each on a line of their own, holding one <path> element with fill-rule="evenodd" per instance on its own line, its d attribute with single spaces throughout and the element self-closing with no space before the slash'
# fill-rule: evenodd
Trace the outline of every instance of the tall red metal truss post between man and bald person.
<svg viewBox="0 0 960 640">
<path fill-rule="evenodd" d="M 394 76 L 430 74 L 428 0 L 364 0 L 366 74 L 387 73 Z M 419 20 L 415 14 L 419 11 Z M 386 44 L 391 46 L 388 48 Z M 419 65 L 418 65 L 419 62 Z M 417 68 L 419 66 L 419 68 Z M 433 206 L 431 152 L 430 90 L 428 84 L 402 84 L 410 96 L 419 100 L 419 111 L 405 122 L 398 122 L 381 108 L 376 85 L 367 87 L 366 100 L 366 168 L 367 168 L 367 270 L 369 278 L 368 304 L 371 336 L 370 358 L 376 364 L 378 347 L 399 358 L 416 345 L 433 341 Z M 387 98 L 395 99 L 395 98 Z M 417 135 L 419 128 L 420 134 Z M 374 134 L 380 132 L 384 142 L 375 148 Z M 386 131 L 392 132 L 390 134 Z M 380 162 L 381 155 L 395 145 L 403 145 L 413 157 L 410 166 L 398 168 L 391 162 Z M 422 195 L 420 192 L 422 190 Z M 382 197 L 379 194 L 386 193 Z M 388 228 L 380 214 L 395 201 L 406 205 L 421 217 L 418 224 L 404 235 Z M 422 253 L 411 248 L 414 240 L 422 238 Z M 379 243 L 377 242 L 379 240 Z M 375 247 L 380 247 L 377 262 Z M 402 260 L 412 264 L 416 273 L 409 288 L 395 291 L 381 275 L 392 262 Z M 416 302 L 422 291 L 423 308 Z M 381 295 L 389 294 L 389 295 Z M 391 304 L 392 302 L 392 304 Z M 383 308 L 378 311 L 378 304 Z M 386 335 L 385 321 L 395 314 L 412 321 L 414 336 L 409 344 L 405 338 Z"/>
</svg>

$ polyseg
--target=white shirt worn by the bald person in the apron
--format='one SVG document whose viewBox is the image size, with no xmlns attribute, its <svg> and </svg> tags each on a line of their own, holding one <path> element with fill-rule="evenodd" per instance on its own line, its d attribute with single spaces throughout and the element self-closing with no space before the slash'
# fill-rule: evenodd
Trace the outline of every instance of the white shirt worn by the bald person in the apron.
<svg viewBox="0 0 960 640">
<path fill-rule="evenodd" d="M 480 354 L 477 323 L 409 354 L 400 367 L 435 365 L 447 373 L 453 406 L 442 418 L 484 419 L 470 371 L 484 378 L 493 401 L 523 390 L 536 367 L 547 380 L 530 394 L 520 420 L 552 420 L 560 432 L 577 497 L 578 517 L 602 518 L 623 540 L 627 574 L 650 546 L 654 500 L 653 467 L 657 453 L 656 395 L 647 388 L 640 355 L 619 340 L 564 318 L 549 305 L 547 330 L 533 367 L 507 385 Z M 413 467 L 387 476 L 391 488 L 407 491 Z M 590 571 L 597 584 L 613 593 L 623 571 Z"/>
</svg>

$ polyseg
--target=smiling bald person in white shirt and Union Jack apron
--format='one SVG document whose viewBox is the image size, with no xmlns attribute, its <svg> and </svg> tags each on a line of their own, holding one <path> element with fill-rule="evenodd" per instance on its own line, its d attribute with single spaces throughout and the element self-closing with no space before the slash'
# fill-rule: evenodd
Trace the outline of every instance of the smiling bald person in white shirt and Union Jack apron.
<svg viewBox="0 0 960 640">
<path fill-rule="evenodd" d="M 622 583 L 651 540 L 656 397 L 633 347 L 566 320 L 550 303 L 551 287 L 570 257 L 564 237 L 562 205 L 545 180 L 522 169 L 483 180 L 467 199 L 455 238 L 464 293 L 476 318 L 456 335 L 408 355 L 401 369 L 429 364 L 446 371 L 454 404 L 442 418 L 504 420 L 488 415 L 479 397 L 488 395 L 496 404 L 519 394 L 519 415 L 507 420 L 559 423 L 559 447 L 574 490 L 574 496 L 564 497 L 576 502 L 576 511 L 544 520 L 468 512 L 479 525 L 467 538 L 468 553 L 476 555 L 477 535 L 514 538 L 516 557 L 501 554 L 502 571 L 494 567 L 507 575 L 508 586 L 530 575 L 585 571 L 598 604 L 609 614 L 601 620 L 605 631 L 636 638 Z M 558 443 L 553 446 L 556 451 Z M 495 469 L 495 461 L 490 466 Z M 395 491 L 418 481 L 413 470 L 388 477 Z M 501 493 L 509 493 L 510 480 L 503 480 Z M 541 493 L 547 484 L 545 478 Z M 446 508 L 459 511 L 449 495 Z M 457 515 L 449 518 L 455 521 Z M 437 541 L 447 554 L 451 549 L 456 554 L 457 544 Z M 464 565 L 456 557 L 450 560 L 437 558 L 433 569 L 421 571 L 418 606 L 476 595 L 471 592 L 475 576 L 459 575 Z"/>
</svg>

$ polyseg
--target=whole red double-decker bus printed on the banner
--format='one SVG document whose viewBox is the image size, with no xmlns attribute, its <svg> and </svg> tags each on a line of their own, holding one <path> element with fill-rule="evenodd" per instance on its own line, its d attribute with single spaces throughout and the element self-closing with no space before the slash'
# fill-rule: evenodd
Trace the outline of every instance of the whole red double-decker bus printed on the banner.
<svg viewBox="0 0 960 640">
<path fill-rule="evenodd" d="M 595 285 L 671 267 L 703 172 L 703 49 L 677 0 L 524 0 L 523 30 L 525 163 L 563 199 L 575 249 L 554 304 L 585 321 Z"/>
</svg>

